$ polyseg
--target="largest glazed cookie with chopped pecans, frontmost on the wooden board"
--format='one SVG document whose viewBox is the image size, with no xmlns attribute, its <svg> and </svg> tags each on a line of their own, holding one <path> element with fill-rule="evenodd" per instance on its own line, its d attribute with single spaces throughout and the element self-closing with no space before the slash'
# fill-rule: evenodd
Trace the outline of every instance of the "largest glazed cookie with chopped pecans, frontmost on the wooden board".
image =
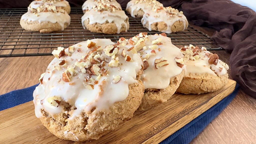
<svg viewBox="0 0 256 144">
<path fill-rule="evenodd" d="M 36 116 L 51 133 L 98 139 L 132 118 L 144 91 L 140 54 L 110 39 L 58 47 L 52 54 L 56 58 L 33 94 Z"/>
</svg>

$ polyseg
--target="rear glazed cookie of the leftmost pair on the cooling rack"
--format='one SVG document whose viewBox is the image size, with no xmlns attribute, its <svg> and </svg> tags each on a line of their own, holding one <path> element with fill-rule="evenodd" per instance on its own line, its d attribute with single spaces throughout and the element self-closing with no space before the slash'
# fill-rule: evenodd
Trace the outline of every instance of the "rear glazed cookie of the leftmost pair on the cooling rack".
<svg viewBox="0 0 256 144">
<path fill-rule="evenodd" d="M 66 0 L 35 0 L 28 6 L 28 12 L 37 12 L 37 8 L 42 5 L 52 5 L 56 7 L 61 7 L 68 14 L 70 13 L 70 5 Z"/>
</svg>

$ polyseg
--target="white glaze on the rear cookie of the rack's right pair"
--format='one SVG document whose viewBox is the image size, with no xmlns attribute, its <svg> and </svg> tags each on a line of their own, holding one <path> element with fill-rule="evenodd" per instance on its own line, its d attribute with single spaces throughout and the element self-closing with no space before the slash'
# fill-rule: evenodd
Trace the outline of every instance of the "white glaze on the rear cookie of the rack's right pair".
<svg viewBox="0 0 256 144">
<path fill-rule="evenodd" d="M 133 14 L 134 10 L 139 11 L 141 9 L 144 13 L 148 13 L 148 11 L 151 11 L 153 7 L 159 6 L 163 6 L 163 4 L 156 0 L 131 0 L 127 3 L 126 10 L 130 7 L 131 16 L 135 17 Z"/>
</svg>

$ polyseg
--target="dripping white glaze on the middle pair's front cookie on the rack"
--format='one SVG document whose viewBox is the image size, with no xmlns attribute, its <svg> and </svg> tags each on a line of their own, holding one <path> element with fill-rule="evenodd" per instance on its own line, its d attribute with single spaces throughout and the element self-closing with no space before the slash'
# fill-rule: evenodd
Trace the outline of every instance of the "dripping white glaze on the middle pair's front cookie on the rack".
<svg viewBox="0 0 256 144">
<path fill-rule="evenodd" d="M 82 16 L 82 25 L 84 27 L 84 29 L 86 28 L 84 26 L 84 21 L 86 19 L 89 19 L 90 22 L 89 24 L 94 24 L 94 23 L 99 23 L 99 24 L 103 24 L 106 21 L 108 21 L 109 23 L 115 23 L 116 27 L 117 27 L 117 33 L 120 33 L 120 29 L 122 27 L 122 24 L 125 25 L 126 27 L 126 31 L 127 29 L 129 29 L 129 25 L 127 25 L 124 21 L 126 19 L 128 19 L 128 16 L 125 14 L 124 11 L 120 11 L 120 10 L 115 10 L 114 12 L 110 12 L 110 11 L 97 11 L 97 9 L 91 9 L 89 11 L 87 11 L 83 16 Z"/>
</svg>

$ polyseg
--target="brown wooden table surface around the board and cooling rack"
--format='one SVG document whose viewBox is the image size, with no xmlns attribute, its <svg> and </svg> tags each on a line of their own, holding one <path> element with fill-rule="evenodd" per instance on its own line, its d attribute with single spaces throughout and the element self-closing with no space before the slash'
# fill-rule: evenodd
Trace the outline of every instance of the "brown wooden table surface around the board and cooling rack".
<svg viewBox="0 0 256 144">
<path fill-rule="evenodd" d="M 209 36 L 213 30 L 201 28 Z M 225 50 L 213 51 L 229 64 Z M 0 95 L 6 92 L 26 88 L 39 83 L 38 78 L 54 56 L 0 58 Z M 229 78 L 230 70 L 228 70 Z M 256 99 L 242 90 L 220 115 L 190 143 L 256 143 Z"/>
</svg>

